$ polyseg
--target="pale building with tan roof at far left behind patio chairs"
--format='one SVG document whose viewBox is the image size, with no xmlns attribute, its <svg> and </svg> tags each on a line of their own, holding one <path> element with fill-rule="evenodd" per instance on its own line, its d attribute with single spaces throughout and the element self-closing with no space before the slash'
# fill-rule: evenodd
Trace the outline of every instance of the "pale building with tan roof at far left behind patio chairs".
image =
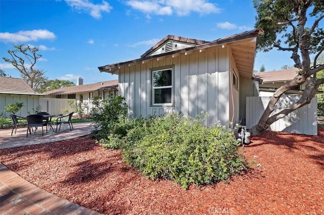
<svg viewBox="0 0 324 215">
<path fill-rule="evenodd" d="M 27 116 L 33 108 L 39 105 L 40 94 L 35 93 L 29 85 L 21 78 L 0 77 L 0 114 L 5 118 L 10 117 L 10 113 L 5 112 L 5 106 L 23 102 L 24 106 L 16 113 L 19 116 Z"/>
</svg>

